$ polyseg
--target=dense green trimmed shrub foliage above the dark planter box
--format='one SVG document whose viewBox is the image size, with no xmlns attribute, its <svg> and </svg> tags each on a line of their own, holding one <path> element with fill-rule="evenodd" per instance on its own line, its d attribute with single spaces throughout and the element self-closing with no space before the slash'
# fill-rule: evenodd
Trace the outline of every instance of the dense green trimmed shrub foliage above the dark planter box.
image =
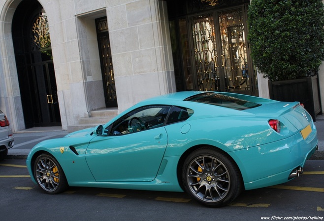
<svg viewBox="0 0 324 221">
<path fill-rule="evenodd" d="M 324 60 L 322 0 L 252 0 L 249 41 L 264 78 L 283 81 L 316 74 Z"/>
</svg>

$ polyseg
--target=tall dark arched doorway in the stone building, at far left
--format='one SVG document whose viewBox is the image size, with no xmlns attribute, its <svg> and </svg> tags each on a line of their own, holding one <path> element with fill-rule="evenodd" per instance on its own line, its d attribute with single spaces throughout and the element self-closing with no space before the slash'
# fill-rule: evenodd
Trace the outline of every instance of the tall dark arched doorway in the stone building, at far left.
<svg viewBox="0 0 324 221">
<path fill-rule="evenodd" d="M 23 0 L 18 5 L 12 38 L 25 127 L 60 126 L 47 16 L 37 0 Z"/>
</svg>

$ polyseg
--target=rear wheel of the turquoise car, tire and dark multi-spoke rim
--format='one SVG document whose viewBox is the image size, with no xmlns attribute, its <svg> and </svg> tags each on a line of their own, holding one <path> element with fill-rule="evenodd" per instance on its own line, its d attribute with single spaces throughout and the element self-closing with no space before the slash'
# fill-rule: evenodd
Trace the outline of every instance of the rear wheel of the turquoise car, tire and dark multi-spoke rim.
<svg viewBox="0 0 324 221">
<path fill-rule="evenodd" d="M 215 147 L 192 152 L 182 167 L 186 192 L 209 207 L 225 206 L 242 192 L 242 178 L 233 160 Z"/>
</svg>

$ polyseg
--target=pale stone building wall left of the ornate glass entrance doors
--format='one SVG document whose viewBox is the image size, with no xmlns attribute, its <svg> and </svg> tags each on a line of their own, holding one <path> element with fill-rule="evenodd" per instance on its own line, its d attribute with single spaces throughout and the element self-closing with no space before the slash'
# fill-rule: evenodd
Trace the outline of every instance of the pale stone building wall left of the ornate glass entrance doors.
<svg viewBox="0 0 324 221">
<path fill-rule="evenodd" d="M 91 117 L 91 111 L 108 109 L 116 114 L 142 99 L 176 90 L 165 1 L 5 0 L 0 7 L 0 108 L 8 115 L 14 131 L 25 129 L 26 121 L 32 121 L 28 127 L 61 123 L 63 130 L 69 127 L 73 130 L 73 126 L 80 124 L 81 118 Z M 37 11 L 37 8 L 40 10 Z M 26 10 L 29 14 L 22 15 Z M 31 22 L 24 23 L 25 26 L 32 30 L 35 18 L 42 15 L 46 15 L 48 20 L 52 57 L 41 58 L 38 62 L 26 61 L 30 56 L 37 59 L 36 55 L 26 55 L 28 52 L 17 52 L 30 47 L 30 36 L 17 37 L 12 32 L 18 28 L 14 35 L 19 35 L 17 32 L 21 32 L 24 28 L 21 24 L 26 20 Z M 106 17 L 105 26 L 109 27 L 110 41 L 103 47 L 110 46 L 112 59 L 108 62 L 113 63 L 113 93 L 117 100 L 117 105 L 111 108 L 106 107 L 104 100 L 96 30 L 96 19 L 102 17 Z M 25 46 L 21 46 L 21 43 Z M 25 58 L 17 53 L 21 56 L 25 54 Z M 44 60 L 52 60 L 53 70 L 43 64 L 46 63 Z M 32 66 L 34 70 L 29 73 L 30 67 L 27 70 L 21 68 L 18 62 L 20 66 Z M 29 64 L 32 62 L 36 64 Z M 47 82 L 38 82 L 42 79 L 22 77 L 46 75 L 46 71 L 55 77 L 56 88 L 52 94 L 41 91 L 47 90 L 46 85 L 41 85 Z M 36 81 L 33 88 L 25 85 L 33 81 Z M 53 85 L 50 87 L 53 89 Z M 36 95 L 32 91 L 26 98 L 29 90 L 37 90 Z M 22 101 L 22 97 L 27 101 Z M 52 112 L 57 108 L 42 108 L 51 105 L 48 103 L 52 106 L 59 104 L 59 117 L 54 122 L 53 116 L 57 116 L 57 113 Z M 39 110 L 29 111 L 36 109 L 35 106 L 39 106 Z M 26 114 L 29 116 L 24 116 Z"/>
</svg>

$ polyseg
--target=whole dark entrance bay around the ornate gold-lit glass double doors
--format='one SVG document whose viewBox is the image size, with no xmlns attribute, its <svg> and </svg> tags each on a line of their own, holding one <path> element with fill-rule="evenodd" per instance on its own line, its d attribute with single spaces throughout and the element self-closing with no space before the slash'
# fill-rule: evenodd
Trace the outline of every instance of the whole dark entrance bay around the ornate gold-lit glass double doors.
<svg viewBox="0 0 324 221">
<path fill-rule="evenodd" d="M 248 2 L 167 0 L 177 91 L 258 96 L 247 42 Z"/>
</svg>

